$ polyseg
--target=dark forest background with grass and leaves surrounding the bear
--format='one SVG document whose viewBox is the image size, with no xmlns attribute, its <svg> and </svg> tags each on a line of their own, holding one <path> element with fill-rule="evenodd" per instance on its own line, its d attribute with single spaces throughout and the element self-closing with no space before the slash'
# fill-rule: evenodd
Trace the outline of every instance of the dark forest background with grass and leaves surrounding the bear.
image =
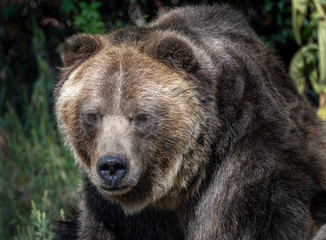
<svg viewBox="0 0 326 240">
<path fill-rule="evenodd" d="M 78 167 L 53 114 L 64 40 L 144 25 L 168 8 L 216 1 L 0 0 L 0 239 L 52 236 L 77 196 Z M 275 50 L 326 120 L 326 0 L 227 0 Z"/>
</svg>

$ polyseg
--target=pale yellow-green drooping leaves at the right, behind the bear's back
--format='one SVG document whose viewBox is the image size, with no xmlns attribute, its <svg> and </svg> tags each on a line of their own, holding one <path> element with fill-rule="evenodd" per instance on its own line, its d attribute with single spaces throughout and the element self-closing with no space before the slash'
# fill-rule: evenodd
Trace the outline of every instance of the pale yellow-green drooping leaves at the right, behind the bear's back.
<svg viewBox="0 0 326 240">
<path fill-rule="evenodd" d="M 290 75 L 299 91 L 311 85 L 318 96 L 318 114 L 326 120 L 326 2 L 292 0 L 293 31 L 300 49 L 293 56 Z"/>
</svg>

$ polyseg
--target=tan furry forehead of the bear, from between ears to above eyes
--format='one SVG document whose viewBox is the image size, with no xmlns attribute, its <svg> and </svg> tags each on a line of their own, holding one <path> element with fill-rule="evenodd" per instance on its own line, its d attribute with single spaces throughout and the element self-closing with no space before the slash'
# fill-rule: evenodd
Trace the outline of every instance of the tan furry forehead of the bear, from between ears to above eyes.
<svg viewBox="0 0 326 240">
<path fill-rule="evenodd" d="M 110 104 L 115 106 L 109 108 L 115 108 L 130 100 L 135 105 L 155 106 L 194 97 L 189 82 L 179 73 L 137 49 L 110 45 L 81 64 L 62 89 L 67 102 L 78 99 L 87 108 Z"/>
</svg>

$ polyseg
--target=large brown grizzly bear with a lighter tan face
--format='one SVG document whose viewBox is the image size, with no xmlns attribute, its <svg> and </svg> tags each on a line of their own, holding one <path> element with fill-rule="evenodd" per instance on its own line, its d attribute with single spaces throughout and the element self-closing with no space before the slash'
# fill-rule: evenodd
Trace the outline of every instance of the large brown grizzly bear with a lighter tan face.
<svg viewBox="0 0 326 240">
<path fill-rule="evenodd" d="M 310 210 L 326 187 L 323 123 L 237 11 L 176 8 L 67 44 L 55 111 L 84 176 L 55 239 L 299 240 L 322 227 Z"/>
</svg>

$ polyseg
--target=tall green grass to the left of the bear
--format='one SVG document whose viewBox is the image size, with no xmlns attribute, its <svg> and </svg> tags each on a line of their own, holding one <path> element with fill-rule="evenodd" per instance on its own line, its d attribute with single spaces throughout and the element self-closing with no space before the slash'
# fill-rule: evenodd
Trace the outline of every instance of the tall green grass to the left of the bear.
<svg viewBox="0 0 326 240">
<path fill-rule="evenodd" d="M 37 56 L 39 78 L 30 98 L 22 90 L 19 113 L 8 102 L 0 116 L 0 239 L 49 239 L 51 222 L 73 203 L 74 160 L 63 147 L 49 105 L 53 73 Z M 5 102 L 5 101 L 4 101 Z M 1 104 L 4 104 L 2 102 Z"/>
</svg>

